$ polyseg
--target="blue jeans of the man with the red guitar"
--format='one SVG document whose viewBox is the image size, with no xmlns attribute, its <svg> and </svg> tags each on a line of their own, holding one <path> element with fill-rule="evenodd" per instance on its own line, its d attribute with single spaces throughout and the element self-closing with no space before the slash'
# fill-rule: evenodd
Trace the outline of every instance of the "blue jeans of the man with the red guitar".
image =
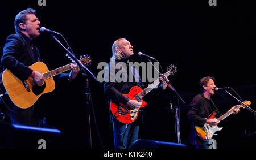
<svg viewBox="0 0 256 160">
<path fill-rule="evenodd" d="M 113 120 L 114 149 L 129 148 L 138 139 L 139 124 L 123 124 Z"/>
</svg>

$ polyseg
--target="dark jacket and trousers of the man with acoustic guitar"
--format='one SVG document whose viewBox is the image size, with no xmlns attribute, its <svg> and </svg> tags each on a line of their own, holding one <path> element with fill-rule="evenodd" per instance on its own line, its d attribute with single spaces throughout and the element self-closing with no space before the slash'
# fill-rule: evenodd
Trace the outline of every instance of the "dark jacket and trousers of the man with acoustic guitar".
<svg viewBox="0 0 256 160">
<path fill-rule="evenodd" d="M 1 72 L 9 69 L 18 79 L 23 81 L 28 79 L 32 73 L 28 66 L 38 61 L 43 62 L 43 59 L 35 46 L 35 40 L 23 33 L 11 34 L 7 37 L 1 58 Z M 61 73 L 56 77 L 58 80 L 67 81 L 68 84 L 67 73 Z M 6 111 L 12 123 L 39 126 L 39 120 L 44 118 L 43 96 L 28 109 L 22 109 L 16 113 L 10 110 Z"/>
</svg>

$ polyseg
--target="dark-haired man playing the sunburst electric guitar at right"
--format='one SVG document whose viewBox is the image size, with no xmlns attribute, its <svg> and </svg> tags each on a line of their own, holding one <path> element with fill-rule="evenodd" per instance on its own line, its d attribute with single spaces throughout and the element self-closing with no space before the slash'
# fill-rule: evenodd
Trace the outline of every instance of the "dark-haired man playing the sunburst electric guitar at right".
<svg viewBox="0 0 256 160">
<path fill-rule="evenodd" d="M 203 127 L 204 124 L 209 124 L 211 126 L 216 126 L 220 121 L 217 119 L 206 119 L 209 117 L 213 111 L 218 111 L 217 107 L 214 105 L 211 97 L 214 94 L 214 89 L 216 85 L 214 83 L 214 77 L 203 77 L 200 80 L 200 87 L 204 90 L 203 93 L 197 94 L 192 102 L 191 109 L 188 111 L 188 119 L 193 123 L 193 126 Z M 238 113 L 240 111 L 236 107 L 232 107 L 230 110 L 233 110 L 233 113 Z M 196 148 L 216 148 L 217 142 L 216 140 L 210 139 L 207 141 L 202 141 L 199 136 L 197 136 L 195 132 L 195 128 L 192 129 L 192 134 L 190 136 L 190 144 L 195 146 Z"/>
</svg>

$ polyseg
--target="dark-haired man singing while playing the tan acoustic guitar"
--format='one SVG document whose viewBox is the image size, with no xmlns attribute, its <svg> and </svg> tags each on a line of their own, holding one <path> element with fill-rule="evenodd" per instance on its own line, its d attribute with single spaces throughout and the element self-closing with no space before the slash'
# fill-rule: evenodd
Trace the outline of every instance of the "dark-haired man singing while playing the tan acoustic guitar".
<svg viewBox="0 0 256 160">
<path fill-rule="evenodd" d="M 35 15 L 35 10 L 27 8 L 19 12 L 15 17 L 16 34 L 7 37 L 6 44 L 3 47 L 3 56 L 1 59 L 1 71 L 9 69 L 20 80 L 27 80 L 31 77 L 36 85 L 44 84 L 44 77 L 41 73 L 31 70 L 35 62 L 42 61 L 39 50 L 35 46 L 35 38 L 40 35 L 40 21 Z M 79 72 L 79 67 L 71 64 L 72 71 L 62 73 L 59 79 L 70 81 L 75 79 Z M 67 83 L 68 84 L 68 83 Z M 34 106 L 22 111 L 14 112 L 6 110 L 10 116 L 11 122 L 16 124 L 25 124 L 28 126 L 48 127 L 43 115 L 42 101 L 39 100 Z"/>
</svg>

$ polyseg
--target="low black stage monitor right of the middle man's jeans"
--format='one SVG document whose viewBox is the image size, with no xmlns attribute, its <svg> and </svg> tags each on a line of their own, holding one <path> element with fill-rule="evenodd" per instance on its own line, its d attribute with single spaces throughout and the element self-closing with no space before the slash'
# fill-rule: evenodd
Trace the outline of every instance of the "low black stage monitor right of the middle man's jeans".
<svg viewBox="0 0 256 160">
<path fill-rule="evenodd" d="M 173 142 L 138 139 L 130 147 L 130 149 L 160 149 L 160 148 L 185 149 L 187 148 L 187 145 L 177 144 Z"/>
</svg>

